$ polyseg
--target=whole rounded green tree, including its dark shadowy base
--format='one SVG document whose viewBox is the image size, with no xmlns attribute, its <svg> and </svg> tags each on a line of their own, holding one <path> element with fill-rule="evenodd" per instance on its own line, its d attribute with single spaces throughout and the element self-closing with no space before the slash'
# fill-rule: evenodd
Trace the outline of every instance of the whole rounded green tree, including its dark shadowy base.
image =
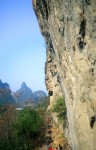
<svg viewBox="0 0 96 150">
<path fill-rule="evenodd" d="M 42 132 L 42 126 L 43 119 L 36 110 L 26 108 L 19 112 L 15 128 L 20 139 L 19 145 L 23 150 L 30 150 L 36 146 L 35 143 Z M 26 148 L 24 148 L 24 144 Z"/>
</svg>

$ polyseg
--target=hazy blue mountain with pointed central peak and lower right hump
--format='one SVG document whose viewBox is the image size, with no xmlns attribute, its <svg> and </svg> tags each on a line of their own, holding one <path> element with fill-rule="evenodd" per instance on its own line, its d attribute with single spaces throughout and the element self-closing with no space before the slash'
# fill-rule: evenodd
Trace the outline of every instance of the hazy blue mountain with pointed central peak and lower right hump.
<svg viewBox="0 0 96 150">
<path fill-rule="evenodd" d="M 14 93 L 16 102 L 25 105 L 34 105 L 43 97 L 46 97 L 45 92 L 36 91 L 32 93 L 32 90 L 27 87 L 25 82 L 23 82 L 21 88 Z"/>
</svg>

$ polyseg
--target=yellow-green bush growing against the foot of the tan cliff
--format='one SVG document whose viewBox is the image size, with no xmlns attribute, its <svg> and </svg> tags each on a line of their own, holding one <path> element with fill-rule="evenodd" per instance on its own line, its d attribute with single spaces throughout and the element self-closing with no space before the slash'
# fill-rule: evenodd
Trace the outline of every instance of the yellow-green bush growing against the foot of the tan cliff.
<svg viewBox="0 0 96 150">
<path fill-rule="evenodd" d="M 53 105 L 53 112 L 57 113 L 58 120 L 59 121 L 65 121 L 66 120 L 66 106 L 65 101 L 63 97 L 58 97 L 56 99 L 56 102 Z"/>
</svg>

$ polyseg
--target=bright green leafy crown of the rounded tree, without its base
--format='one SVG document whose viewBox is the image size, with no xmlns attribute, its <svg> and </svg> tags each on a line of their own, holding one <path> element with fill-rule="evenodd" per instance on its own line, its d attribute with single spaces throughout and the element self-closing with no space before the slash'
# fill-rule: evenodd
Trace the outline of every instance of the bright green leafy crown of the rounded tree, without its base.
<svg viewBox="0 0 96 150">
<path fill-rule="evenodd" d="M 43 120 L 41 116 L 33 109 L 24 109 L 20 112 L 16 124 L 19 135 L 37 136 L 42 128 Z"/>
</svg>

